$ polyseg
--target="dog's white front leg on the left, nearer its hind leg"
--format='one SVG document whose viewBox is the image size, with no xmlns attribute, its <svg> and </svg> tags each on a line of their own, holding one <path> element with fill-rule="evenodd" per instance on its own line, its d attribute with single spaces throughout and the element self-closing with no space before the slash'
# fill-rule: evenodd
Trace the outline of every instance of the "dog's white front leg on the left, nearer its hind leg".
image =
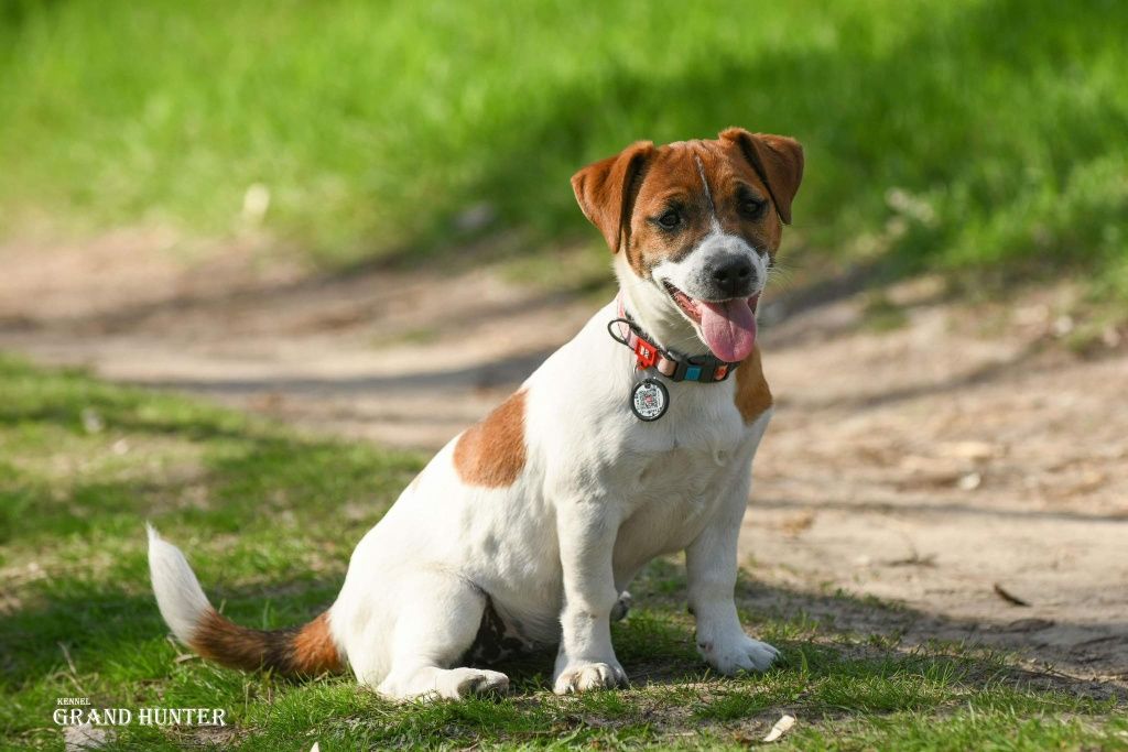
<svg viewBox="0 0 1128 752">
<path fill-rule="evenodd" d="M 619 520 L 606 499 L 566 501 L 556 508 L 564 573 L 561 647 L 553 690 L 557 695 L 626 684 L 611 646 L 615 589 L 611 552 Z"/>
</svg>

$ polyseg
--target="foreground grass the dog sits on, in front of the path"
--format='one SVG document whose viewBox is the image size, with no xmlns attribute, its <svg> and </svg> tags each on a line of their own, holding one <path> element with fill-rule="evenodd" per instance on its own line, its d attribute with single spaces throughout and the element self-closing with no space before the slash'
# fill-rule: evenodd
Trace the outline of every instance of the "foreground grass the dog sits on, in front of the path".
<svg viewBox="0 0 1128 752">
<path fill-rule="evenodd" d="M 352 546 L 423 458 L 8 359 L 0 393 L 0 746 L 61 749 L 55 699 L 78 696 L 220 707 L 232 722 L 133 725 L 111 749 L 743 749 L 788 713 L 799 724 L 781 749 L 1128 750 L 1122 702 L 1005 656 L 851 634 L 786 592 L 778 609 L 744 613 L 786 663 L 712 675 L 694 652 L 675 559 L 646 569 L 636 609 L 615 627 L 634 679 L 623 692 L 554 697 L 550 655 L 505 667 L 509 698 L 430 705 L 391 705 L 347 678 L 292 683 L 185 660 L 149 592 L 144 520 L 185 548 L 226 613 L 299 623 L 333 601 Z M 742 583 L 741 600 L 757 587 Z M 884 612 L 895 623 L 899 612 Z"/>
</svg>

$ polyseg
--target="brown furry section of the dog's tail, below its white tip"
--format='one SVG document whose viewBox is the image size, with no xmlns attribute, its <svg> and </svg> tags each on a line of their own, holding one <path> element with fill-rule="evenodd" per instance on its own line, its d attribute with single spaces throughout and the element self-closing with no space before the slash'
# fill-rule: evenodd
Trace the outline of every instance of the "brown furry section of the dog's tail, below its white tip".
<svg viewBox="0 0 1128 752">
<path fill-rule="evenodd" d="M 343 667 L 327 611 L 305 627 L 265 631 L 240 627 L 209 609 L 191 647 L 210 661 L 245 671 L 266 669 L 289 676 L 316 676 Z"/>
</svg>

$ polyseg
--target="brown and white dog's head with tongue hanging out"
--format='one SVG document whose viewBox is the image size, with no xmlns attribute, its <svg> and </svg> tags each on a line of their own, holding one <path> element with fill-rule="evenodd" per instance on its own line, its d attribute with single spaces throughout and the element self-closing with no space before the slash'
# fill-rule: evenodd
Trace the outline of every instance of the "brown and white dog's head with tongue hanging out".
<svg viewBox="0 0 1128 752">
<path fill-rule="evenodd" d="M 677 333 L 688 325 L 737 362 L 756 343 L 756 304 L 802 177 L 797 141 L 729 129 L 714 141 L 634 143 L 572 187 L 653 334 L 685 352 Z"/>
</svg>

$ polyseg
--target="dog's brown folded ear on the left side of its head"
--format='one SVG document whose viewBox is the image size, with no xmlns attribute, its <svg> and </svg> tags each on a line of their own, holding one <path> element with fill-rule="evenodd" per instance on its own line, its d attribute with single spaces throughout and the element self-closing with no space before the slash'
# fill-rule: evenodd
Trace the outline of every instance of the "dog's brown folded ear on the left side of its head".
<svg viewBox="0 0 1128 752">
<path fill-rule="evenodd" d="M 572 176 L 572 189 L 583 215 L 599 228 L 611 253 L 631 237 L 631 214 L 654 144 L 637 141 L 615 157 L 588 165 Z"/>
</svg>

